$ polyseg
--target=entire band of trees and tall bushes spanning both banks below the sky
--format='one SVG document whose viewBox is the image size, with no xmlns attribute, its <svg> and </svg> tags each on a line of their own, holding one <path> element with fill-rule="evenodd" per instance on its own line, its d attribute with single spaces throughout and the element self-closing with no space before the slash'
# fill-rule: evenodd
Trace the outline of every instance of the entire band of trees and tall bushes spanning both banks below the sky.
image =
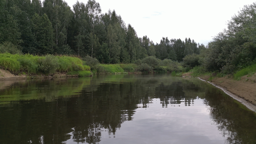
<svg viewBox="0 0 256 144">
<path fill-rule="evenodd" d="M 255 63 L 255 10 L 255 3 L 245 5 L 204 46 L 190 38 L 163 37 L 159 44 L 139 38 L 115 10 L 103 13 L 95 0 L 73 8 L 63 0 L 1 0 L 0 53 L 90 56 L 101 64 L 169 60 L 185 69 L 233 74 Z"/>
</svg>

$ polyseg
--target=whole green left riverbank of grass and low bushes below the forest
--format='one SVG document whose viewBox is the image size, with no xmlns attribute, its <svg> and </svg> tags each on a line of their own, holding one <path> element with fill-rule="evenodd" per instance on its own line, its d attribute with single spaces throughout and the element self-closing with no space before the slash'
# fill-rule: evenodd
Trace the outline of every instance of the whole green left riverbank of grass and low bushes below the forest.
<svg viewBox="0 0 256 144">
<path fill-rule="evenodd" d="M 91 76 L 92 74 L 116 73 L 172 73 L 181 76 L 184 68 L 180 63 L 171 60 L 159 60 L 147 57 L 142 61 L 130 64 L 100 64 L 90 56 L 81 60 L 75 56 L 31 54 L 0 54 L 0 68 L 14 75 L 24 76 Z M 4 77 L 0 75 L 0 77 Z"/>
</svg>

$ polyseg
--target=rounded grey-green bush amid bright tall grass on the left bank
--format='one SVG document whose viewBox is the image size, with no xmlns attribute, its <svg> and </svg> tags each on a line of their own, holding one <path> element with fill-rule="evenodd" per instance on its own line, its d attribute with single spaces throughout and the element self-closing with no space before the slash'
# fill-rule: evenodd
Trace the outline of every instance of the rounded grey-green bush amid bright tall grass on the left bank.
<svg viewBox="0 0 256 144">
<path fill-rule="evenodd" d="M 59 68 L 59 61 L 53 55 L 46 55 L 38 59 L 39 71 L 44 74 L 51 75 Z"/>
</svg>

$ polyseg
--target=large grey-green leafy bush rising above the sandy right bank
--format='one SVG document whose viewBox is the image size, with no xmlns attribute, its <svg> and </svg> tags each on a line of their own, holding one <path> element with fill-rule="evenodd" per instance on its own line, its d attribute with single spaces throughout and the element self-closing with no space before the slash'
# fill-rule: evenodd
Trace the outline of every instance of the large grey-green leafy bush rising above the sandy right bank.
<svg viewBox="0 0 256 144">
<path fill-rule="evenodd" d="M 228 21 L 223 30 L 208 44 L 204 66 L 209 71 L 233 74 L 236 70 L 252 64 L 256 58 L 255 12 L 256 3 L 244 8 Z"/>
</svg>

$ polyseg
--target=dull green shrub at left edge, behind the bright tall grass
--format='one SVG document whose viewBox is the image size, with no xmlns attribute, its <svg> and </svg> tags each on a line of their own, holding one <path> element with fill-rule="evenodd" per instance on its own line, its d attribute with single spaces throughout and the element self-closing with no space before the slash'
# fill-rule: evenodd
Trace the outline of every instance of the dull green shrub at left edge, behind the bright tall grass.
<svg viewBox="0 0 256 144">
<path fill-rule="evenodd" d="M 11 42 L 5 41 L 3 44 L 0 44 L 0 53 L 21 54 L 21 51 Z"/>
</svg>

